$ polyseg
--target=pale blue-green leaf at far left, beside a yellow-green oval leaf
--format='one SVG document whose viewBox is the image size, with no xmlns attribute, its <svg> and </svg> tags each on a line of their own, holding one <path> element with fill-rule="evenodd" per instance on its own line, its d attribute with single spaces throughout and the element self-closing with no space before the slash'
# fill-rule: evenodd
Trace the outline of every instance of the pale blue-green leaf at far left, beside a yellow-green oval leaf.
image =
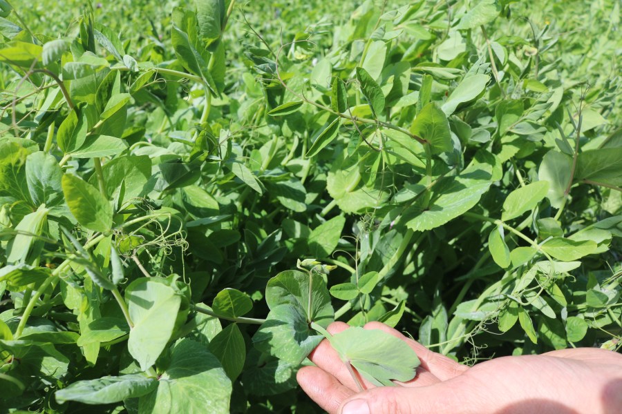
<svg viewBox="0 0 622 414">
<path fill-rule="evenodd" d="M 63 170 L 58 161 L 45 152 L 33 152 L 26 158 L 26 181 L 35 206 L 57 206 L 63 201 Z"/>
</svg>

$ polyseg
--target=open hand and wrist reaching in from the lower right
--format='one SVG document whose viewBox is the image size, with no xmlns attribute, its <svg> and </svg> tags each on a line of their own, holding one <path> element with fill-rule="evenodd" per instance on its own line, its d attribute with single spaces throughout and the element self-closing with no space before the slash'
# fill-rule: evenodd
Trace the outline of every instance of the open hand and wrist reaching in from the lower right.
<svg viewBox="0 0 622 414">
<path fill-rule="evenodd" d="M 348 328 L 328 327 L 332 334 Z M 379 322 L 421 360 L 417 375 L 395 387 L 375 387 L 359 377 L 359 392 L 339 355 L 324 339 L 309 355 L 316 366 L 301 368 L 305 393 L 330 414 L 614 414 L 622 413 L 622 355 L 574 348 L 543 355 L 499 357 L 464 366 Z"/>
</svg>

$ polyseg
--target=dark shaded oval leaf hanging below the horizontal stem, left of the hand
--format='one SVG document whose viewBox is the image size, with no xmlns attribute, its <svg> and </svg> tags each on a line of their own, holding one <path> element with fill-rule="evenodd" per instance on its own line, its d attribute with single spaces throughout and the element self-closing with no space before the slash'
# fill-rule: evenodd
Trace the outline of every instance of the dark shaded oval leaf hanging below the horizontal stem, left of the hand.
<svg viewBox="0 0 622 414">
<path fill-rule="evenodd" d="M 246 346 L 244 337 L 237 324 L 231 324 L 220 331 L 209 342 L 209 351 L 214 354 L 223 365 L 225 373 L 235 381 L 244 368 Z"/>
</svg>

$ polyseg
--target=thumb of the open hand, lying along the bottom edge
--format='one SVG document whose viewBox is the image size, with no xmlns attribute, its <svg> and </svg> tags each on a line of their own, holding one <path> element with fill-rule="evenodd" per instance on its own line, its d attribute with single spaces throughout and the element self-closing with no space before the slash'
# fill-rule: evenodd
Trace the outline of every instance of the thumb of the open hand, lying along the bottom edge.
<svg viewBox="0 0 622 414">
<path fill-rule="evenodd" d="M 460 413 L 464 408 L 463 393 L 460 389 L 449 388 L 443 383 L 415 388 L 372 388 L 344 401 L 339 414 Z"/>
</svg>

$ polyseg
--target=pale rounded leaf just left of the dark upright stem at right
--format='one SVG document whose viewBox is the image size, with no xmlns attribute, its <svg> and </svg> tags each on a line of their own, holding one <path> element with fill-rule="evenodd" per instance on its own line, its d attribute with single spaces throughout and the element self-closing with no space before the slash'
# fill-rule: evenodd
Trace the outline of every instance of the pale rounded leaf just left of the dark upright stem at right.
<svg viewBox="0 0 622 414">
<path fill-rule="evenodd" d="M 572 157 L 556 150 L 547 152 L 538 168 L 538 179 L 549 183 L 547 198 L 554 208 L 560 208 L 563 203 L 571 170 Z"/>
</svg>

